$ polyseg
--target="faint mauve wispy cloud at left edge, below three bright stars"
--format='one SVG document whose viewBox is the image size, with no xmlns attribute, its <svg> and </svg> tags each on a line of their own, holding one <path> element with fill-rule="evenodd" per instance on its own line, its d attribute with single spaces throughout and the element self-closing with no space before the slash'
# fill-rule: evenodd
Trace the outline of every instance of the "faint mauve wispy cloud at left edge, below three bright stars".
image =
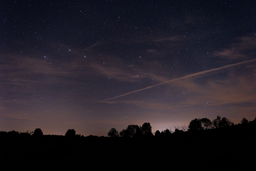
<svg viewBox="0 0 256 171">
<path fill-rule="evenodd" d="M 10 85 L 57 83 L 63 77 L 75 76 L 79 67 L 74 61 L 56 62 L 37 56 L 12 54 L 5 55 L 2 59 L 0 80 Z"/>
</svg>

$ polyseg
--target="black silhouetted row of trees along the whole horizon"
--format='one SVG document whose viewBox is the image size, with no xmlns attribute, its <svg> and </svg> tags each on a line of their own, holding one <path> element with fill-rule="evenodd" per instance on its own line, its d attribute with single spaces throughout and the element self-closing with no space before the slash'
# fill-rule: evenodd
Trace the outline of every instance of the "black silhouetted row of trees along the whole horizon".
<svg viewBox="0 0 256 171">
<path fill-rule="evenodd" d="M 224 129 L 232 129 L 237 132 L 243 131 L 243 128 L 250 130 L 256 129 L 256 118 L 252 121 L 248 121 L 246 118 L 241 120 L 240 124 L 234 125 L 229 118 L 217 116 L 215 119 L 210 120 L 209 118 L 195 118 L 191 120 L 188 126 L 175 126 L 175 130 L 170 129 L 156 130 L 152 132 L 152 126 L 150 123 L 144 123 L 142 126 L 138 125 L 128 125 L 126 129 L 117 131 L 115 128 L 111 128 L 108 132 L 108 137 L 124 137 L 124 138 L 148 138 L 148 137 L 175 137 L 182 136 L 183 133 L 194 134 L 197 132 L 203 132 L 211 130 L 217 132 Z M 76 134 L 74 129 L 68 129 L 64 136 L 62 135 L 44 135 L 40 128 L 36 128 L 34 131 L 0 131 L 0 138 L 41 138 L 41 137 L 55 137 L 58 139 L 95 139 L 95 138 L 105 138 L 104 136 L 83 136 L 81 134 Z"/>
</svg>

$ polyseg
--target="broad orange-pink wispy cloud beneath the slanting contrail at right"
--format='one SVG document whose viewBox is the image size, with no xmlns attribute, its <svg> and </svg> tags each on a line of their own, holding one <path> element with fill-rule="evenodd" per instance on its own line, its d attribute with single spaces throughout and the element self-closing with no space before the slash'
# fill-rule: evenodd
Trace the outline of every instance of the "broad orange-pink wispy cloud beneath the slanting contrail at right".
<svg viewBox="0 0 256 171">
<path fill-rule="evenodd" d="M 255 60 L 254 60 L 255 61 Z M 243 66 L 243 69 L 250 71 L 251 66 L 255 63 L 248 63 Z M 241 66 L 242 67 L 242 66 Z M 161 86 L 159 96 L 153 98 L 145 97 L 143 99 L 135 96 L 124 99 L 102 100 L 100 102 L 116 105 L 124 103 L 133 105 L 140 109 L 149 109 L 147 112 L 161 111 L 161 113 L 173 113 L 179 115 L 182 111 L 183 115 L 187 114 L 202 114 L 206 115 L 215 112 L 222 112 L 225 109 L 225 115 L 230 115 L 235 111 L 255 113 L 256 108 L 256 89 L 255 68 L 250 74 L 243 74 L 238 69 L 229 68 L 230 72 L 226 79 L 215 80 L 211 76 L 214 74 L 208 73 L 187 79 L 180 79 L 172 82 L 172 86 Z M 247 73 L 247 72 L 246 72 Z M 204 82 L 201 83 L 201 77 L 205 77 Z M 179 97 L 177 97 L 179 96 Z M 134 99 L 134 100 L 133 100 Z M 205 113 L 207 111 L 207 113 Z M 219 113 L 221 114 L 221 113 Z"/>
</svg>

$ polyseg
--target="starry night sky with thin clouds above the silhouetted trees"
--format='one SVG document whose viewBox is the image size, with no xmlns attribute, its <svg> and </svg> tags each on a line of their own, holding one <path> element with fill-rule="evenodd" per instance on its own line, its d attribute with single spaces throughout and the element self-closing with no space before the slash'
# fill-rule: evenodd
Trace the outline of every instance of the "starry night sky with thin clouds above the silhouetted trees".
<svg viewBox="0 0 256 171">
<path fill-rule="evenodd" d="M 0 130 L 107 136 L 256 117 L 256 1 L 0 2 Z"/>
</svg>

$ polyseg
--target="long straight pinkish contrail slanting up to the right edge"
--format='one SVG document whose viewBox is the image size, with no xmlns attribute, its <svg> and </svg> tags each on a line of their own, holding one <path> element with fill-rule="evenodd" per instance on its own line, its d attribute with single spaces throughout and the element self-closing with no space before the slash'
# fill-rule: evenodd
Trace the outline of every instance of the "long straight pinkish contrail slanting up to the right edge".
<svg viewBox="0 0 256 171">
<path fill-rule="evenodd" d="M 246 61 L 243 61 L 243 62 L 238 62 L 238 63 L 226 65 L 226 66 L 223 66 L 223 67 L 219 67 L 219 68 L 214 68 L 214 69 L 210 69 L 210 70 L 205 70 L 205 71 L 197 72 L 197 73 L 194 73 L 194 74 L 186 75 L 186 76 L 183 76 L 183 77 L 180 77 L 180 78 L 176 78 L 176 79 L 172 79 L 172 80 L 169 80 L 169 81 L 166 81 L 166 82 L 162 82 L 162 83 L 159 83 L 159 84 L 148 86 L 148 87 L 145 87 L 145 88 L 142 88 L 142 89 L 139 89 L 139 90 L 127 92 L 126 94 L 119 95 L 119 96 L 116 96 L 116 97 L 112 97 L 112 98 L 106 99 L 106 100 L 111 100 L 111 99 L 115 99 L 115 98 L 118 98 L 118 97 L 126 96 L 126 95 L 132 94 L 134 92 L 150 89 L 152 87 L 155 87 L 155 86 L 158 86 L 158 85 L 162 85 L 162 84 L 166 84 L 166 83 L 170 83 L 170 82 L 173 82 L 173 81 L 176 81 L 176 80 L 182 80 L 182 79 L 186 79 L 186 78 L 189 78 L 189 77 L 193 77 L 193 76 L 197 76 L 197 75 L 201 75 L 201 74 L 205 74 L 205 73 L 209 73 L 209 72 L 213 72 L 213 71 L 218 71 L 218 70 L 221 70 L 221 69 L 224 69 L 224 68 L 233 67 L 233 66 L 241 65 L 243 63 L 248 63 L 248 62 L 253 62 L 253 61 L 256 61 L 256 59 L 246 60 Z"/>
</svg>

